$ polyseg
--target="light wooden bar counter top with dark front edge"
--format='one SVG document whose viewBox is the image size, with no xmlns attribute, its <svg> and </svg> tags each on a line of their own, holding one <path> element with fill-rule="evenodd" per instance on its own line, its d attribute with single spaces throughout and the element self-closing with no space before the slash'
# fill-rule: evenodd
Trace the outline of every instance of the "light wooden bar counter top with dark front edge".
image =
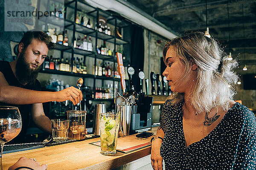
<svg viewBox="0 0 256 170">
<path fill-rule="evenodd" d="M 156 130 L 157 127 L 152 127 L 153 132 Z M 100 153 L 99 146 L 90 144 L 97 141 L 100 139 L 88 139 L 34 150 L 6 153 L 2 157 L 3 169 L 7 170 L 21 156 L 25 156 L 26 158 L 35 158 L 41 164 L 47 164 L 47 170 L 111 170 L 151 154 L 151 146 L 148 146 L 131 153 L 116 152 L 114 156 L 105 156 Z"/>
</svg>

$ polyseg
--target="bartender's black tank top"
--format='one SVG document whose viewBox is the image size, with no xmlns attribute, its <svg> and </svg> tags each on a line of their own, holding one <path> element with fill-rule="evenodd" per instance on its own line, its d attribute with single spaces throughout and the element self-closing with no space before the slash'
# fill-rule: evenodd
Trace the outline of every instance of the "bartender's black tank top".
<svg viewBox="0 0 256 170">
<path fill-rule="evenodd" d="M 38 80 L 35 81 L 32 85 L 22 85 L 15 77 L 11 65 L 7 61 L 0 61 L 0 72 L 4 75 L 6 81 L 9 85 L 16 86 L 19 88 L 26 88 L 29 90 L 35 90 L 40 91 L 41 90 L 41 84 Z M 0 80 L 1 81 L 1 80 Z M 11 142 L 8 142 L 7 144 L 16 144 L 16 143 L 23 143 L 24 138 L 26 136 L 26 131 L 29 126 L 29 119 L 30 119 L 30 112 L 31 112 L 31 104 L 29 105 L 11 105 L 8 103 L 0 102 L 0 105 L 2 106 L 15 106 L 19 108 L 21 119 L 22 119 L 22 128 L 18 136 L 16 136 L 14 139 L 12 139 Z"/>
</svg>

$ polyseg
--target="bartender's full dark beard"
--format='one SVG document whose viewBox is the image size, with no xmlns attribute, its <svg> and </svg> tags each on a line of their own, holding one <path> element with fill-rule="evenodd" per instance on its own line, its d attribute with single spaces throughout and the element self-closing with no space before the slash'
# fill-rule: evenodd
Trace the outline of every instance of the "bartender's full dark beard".
<svg viewBox="0 0 256 170">
<path fill-rule="evenodd" d="M 24 59 L 24 52 L 20 53 L 20 56 L 17 59 L 16 63 L 16 76 L 21 84 L 32 85 L 35 83 L 35 80 L 38 76 L 38 72 L 41 68 L 41 65 L 34 70 L 30 68 L 30 64 L 26 63 Z"/>
</svg>

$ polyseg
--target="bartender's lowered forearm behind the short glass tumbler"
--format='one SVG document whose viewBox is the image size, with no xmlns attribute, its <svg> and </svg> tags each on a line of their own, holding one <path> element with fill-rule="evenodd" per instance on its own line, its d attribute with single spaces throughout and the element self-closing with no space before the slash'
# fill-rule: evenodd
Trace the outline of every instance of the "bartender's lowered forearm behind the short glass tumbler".
<svg viewBox="0 0 256 170">
<path fill-rule="evenodd" d="M 31 116 L 35 125 L 47 133 L 52 133 L 52 126 L 50 119 L 45 116 L 42 103 L 32 105 Z"/>
</svg>

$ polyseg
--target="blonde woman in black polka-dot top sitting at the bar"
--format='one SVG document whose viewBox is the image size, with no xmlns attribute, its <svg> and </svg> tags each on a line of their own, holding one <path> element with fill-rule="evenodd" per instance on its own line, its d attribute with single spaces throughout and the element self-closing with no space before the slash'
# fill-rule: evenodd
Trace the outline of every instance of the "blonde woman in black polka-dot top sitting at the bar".
<svg viewBox="0 0 256 170">
<path fill-rule="evenodd" d="M 256 169 L 256 118 L 232 100 L 237 62 L 201 32 L 167 42 L 163 58 L 174 93 L 151 140 L 154 170 Z"/>
</svg>

